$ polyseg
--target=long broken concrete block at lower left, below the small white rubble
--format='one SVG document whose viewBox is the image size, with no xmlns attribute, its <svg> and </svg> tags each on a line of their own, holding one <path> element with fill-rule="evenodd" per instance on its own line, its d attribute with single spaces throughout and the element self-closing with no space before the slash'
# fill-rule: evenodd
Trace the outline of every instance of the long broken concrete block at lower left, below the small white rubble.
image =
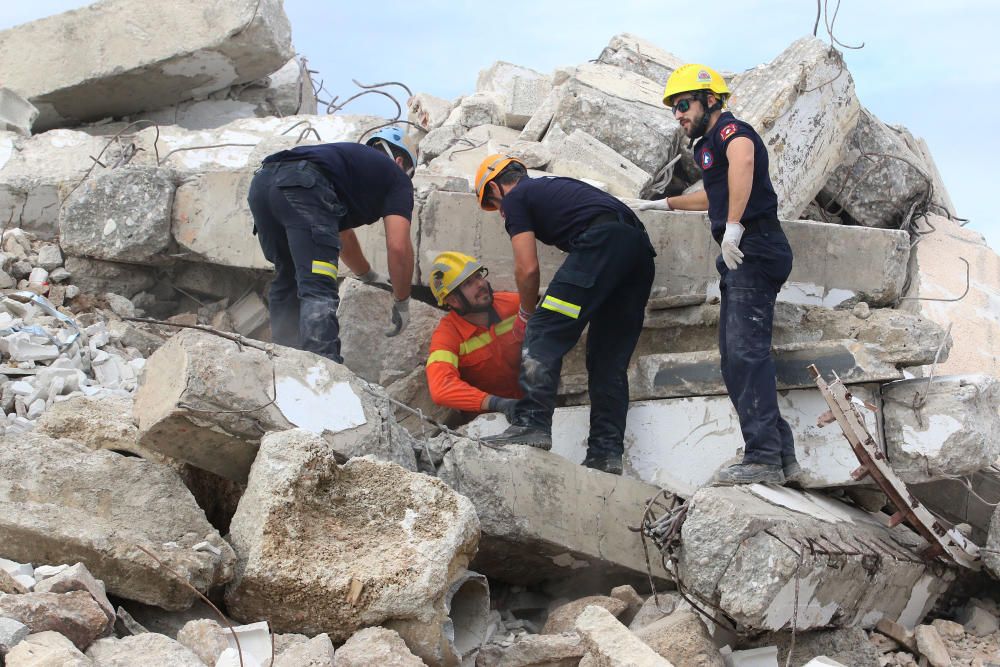
<svg viewBox="0 0 1000 667">
<path fill-rule="evenodd" d="M 201 591 L 232 576 L 232 550 L 169 468 L 23 434 L 0 447 L 0 471 L 4 556 L 82 561 L 110 593 L 165 609 L 196 596 L 136 545 Z M 191 548 L 203 540 L 221 555 Z"/>
</svg>

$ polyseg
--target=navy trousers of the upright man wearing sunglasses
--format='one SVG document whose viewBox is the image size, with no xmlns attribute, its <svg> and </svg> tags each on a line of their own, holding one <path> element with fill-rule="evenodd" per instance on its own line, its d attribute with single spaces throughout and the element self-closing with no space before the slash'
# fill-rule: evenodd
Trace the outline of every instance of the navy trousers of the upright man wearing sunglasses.
<svg viewBox="0 0 1000 667">
<path fill-rule="evenodd" d="M 774 302 L 792 271 L 792 249 L 775 222 L 754 223 L 740 243 L 743 264 L 730 270 L 722 255 L 719 352 L 722 378 L 743 431 L 744 463 L 782 465 L 795 460 L 792 430 L 778 409 L 771 356 Z"/>
</svg>

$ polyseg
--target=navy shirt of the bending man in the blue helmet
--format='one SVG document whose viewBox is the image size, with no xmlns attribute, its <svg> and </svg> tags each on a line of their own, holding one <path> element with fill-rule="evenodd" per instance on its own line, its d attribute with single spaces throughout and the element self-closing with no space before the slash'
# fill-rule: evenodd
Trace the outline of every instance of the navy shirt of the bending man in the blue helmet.
<svg viewBox="0 0 1000 667">
<path fill-rule="evenodd" d="M 316 144 L 269 155 L 264 163 L 290 160 L 308 160 L 330 179 L 347 207 L 341 229 L 370 225 L 387 215 L 413 218 L 413 183 L 384 151 L 351 142 Z"/>
</svg>

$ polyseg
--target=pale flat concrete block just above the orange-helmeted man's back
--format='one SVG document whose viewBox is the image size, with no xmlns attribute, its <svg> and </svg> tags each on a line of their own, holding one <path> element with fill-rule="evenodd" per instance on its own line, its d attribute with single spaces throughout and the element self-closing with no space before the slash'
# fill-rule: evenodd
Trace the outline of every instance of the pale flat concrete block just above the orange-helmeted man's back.
<svg viewBox="0 0 1000 667">
<path fill-rule="evenodd" d="M 616 197 L 639 197 L 652 177 L 583 130 L 574 130 L 552 152 L 548 171 L 570 178 L 603 181 Z"/>
</svg>

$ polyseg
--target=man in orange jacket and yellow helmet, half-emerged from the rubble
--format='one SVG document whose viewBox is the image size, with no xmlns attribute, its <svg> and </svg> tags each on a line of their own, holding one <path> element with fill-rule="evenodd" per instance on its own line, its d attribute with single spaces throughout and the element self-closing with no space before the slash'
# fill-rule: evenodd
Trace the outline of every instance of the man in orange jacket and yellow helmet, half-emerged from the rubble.
<svg viewBox="0 0 1000 667">
<path fill-rule="evenodd" d="M 463 412 L 513 416 L 521 397 L 522 335 L 514 331 L 519 300 L 494 292 L 475 257 L 443 252 L 431 265 L 431 293 L 450 311 L 431 336 L 427 386 L 431 399 Z"/>
</svg>

